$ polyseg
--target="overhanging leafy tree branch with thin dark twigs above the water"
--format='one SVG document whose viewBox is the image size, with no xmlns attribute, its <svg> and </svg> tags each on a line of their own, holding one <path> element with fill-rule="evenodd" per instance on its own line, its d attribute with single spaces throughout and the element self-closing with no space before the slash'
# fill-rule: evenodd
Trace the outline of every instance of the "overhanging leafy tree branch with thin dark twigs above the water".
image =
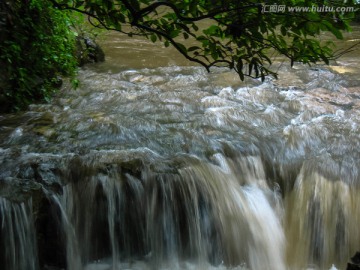
<svg viewBox="0 0 360 270">
<path fill-rule="evenodd" d="M 342 38 L 351 13 L 264 12 L 257 0 L 52 0 L 62 9 L 89 16 L 93 25 L 144 35 L 151 41 L 173 45 L 190 61 L 235 69 L 240 78 L 276 75 L 269 67 L 271 53 L 303 63 L 328 63 L 334 55 L 330 43 L 318 35 L 329 31 Z M 328 0 L 268 0 L 266 5 L 312 7 Z M 343 4 L 343 2 L 339 2 Z M 351 5 L 347 1 L 347 5 Z"/>
</svg>

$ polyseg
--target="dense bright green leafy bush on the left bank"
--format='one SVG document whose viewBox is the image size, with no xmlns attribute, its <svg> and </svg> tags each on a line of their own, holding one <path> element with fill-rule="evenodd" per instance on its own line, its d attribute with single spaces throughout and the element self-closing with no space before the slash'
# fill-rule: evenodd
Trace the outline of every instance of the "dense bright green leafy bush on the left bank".
<svg viewBox="0 0 360 270">
<path fill-rule="evenodd" d="M 47 0 L 4 1 L 0 12 L 0 103 L 24 109 L 48 100 L 61 82 L 75 76 L 75 36 L 67 12 Z"/>
</svg>

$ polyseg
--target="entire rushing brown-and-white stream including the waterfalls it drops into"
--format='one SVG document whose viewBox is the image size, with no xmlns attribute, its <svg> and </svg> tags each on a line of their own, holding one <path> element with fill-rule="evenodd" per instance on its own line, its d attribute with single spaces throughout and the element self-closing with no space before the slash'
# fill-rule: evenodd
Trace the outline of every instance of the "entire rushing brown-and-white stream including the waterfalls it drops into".
<svg viewBox="0 0 360 270">
<path fill-rule="evenodd" d="M 345 269 L 358 51 L 261 83 L 118 35 L 104 49 L 78 90 L 0 116 L 1 269 Z"/>
</svg>

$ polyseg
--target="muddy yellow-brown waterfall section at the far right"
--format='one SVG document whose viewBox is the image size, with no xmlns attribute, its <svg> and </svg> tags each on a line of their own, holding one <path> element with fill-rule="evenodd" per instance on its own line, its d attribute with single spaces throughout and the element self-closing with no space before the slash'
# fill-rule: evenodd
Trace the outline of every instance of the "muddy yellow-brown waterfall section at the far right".
<svg viewBox="0 0 360 270">
<path fill-rule="evenodd" d="M 343 258 L 354 254 L 360 243 L 358 194 L 359 187 L 346 180 L 325 177 L 304 165 L 285 202 L 291 265 L 308 261 L 325 269 L 332 263 L 345 267 Z"/>
</svg>

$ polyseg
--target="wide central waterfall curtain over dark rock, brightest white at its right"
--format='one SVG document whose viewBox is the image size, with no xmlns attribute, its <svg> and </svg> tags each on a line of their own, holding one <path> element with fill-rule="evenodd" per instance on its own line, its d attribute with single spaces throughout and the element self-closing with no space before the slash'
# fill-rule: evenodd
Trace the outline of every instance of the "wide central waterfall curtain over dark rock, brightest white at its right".
<svg viewBox="0 0 360 270">
<path fill-rule="evenodd" d="M 183 166 L 171 173 L 144 168 L 139 175 L 120 164 L 77 167 L 81 179 L 52 196 L 67 269 L 137 269 L 141 262 L 151 269 L 187 269 L 185 262 L 286 269 L 283 206 L 261 160 L 213 160 L 181 157 Z"/>
</svg>

